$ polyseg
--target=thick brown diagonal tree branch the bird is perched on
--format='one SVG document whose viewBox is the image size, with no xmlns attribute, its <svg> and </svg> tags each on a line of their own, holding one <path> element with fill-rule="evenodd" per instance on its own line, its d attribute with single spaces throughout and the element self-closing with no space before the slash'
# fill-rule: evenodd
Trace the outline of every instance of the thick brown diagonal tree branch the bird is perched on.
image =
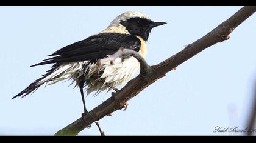
<svg viewBox="0 0 256 143">
<path fill-rule="evenodd" d="M 119 90 L 115 95 L 115 99 L 112 97 L 108 98 L 107 101 L 98 105 L 98 107 L 95 107 L 87 115 L 77 119 L 62 130 L 59 130 L 57 133 L 55 133 L 55 135 L 77 135 L 94 121 L 99 121 L 99 119 L 109 115 L 113 111 L 123 108 L 123 105 L 129 99 L 136 96 L 141 90 L 157 81 L 157 79 L 165 76 L 165 74 L 171 71 L 173 68 L 176 68 L 178 65 L 187 61 L 205 48 L 229 39 L 229 34 L 238 25 L 249 18 L 249 16 L 251 16 L 255 10 L 256 7 L 241 8 L 229 19 L 218 25 L 218 27 L 213 29 L 211 32 L 207 33 L 207 35 L 188 45 L 176 55 L 171 56 L 170 58 L 166 59 L 160 64 L 152 66 L 151 68 L 146 68 L 146 72 L 140 73 L 140 75 L 130 80 L 125 87 Z M 139 62 L 140 64 L 142 63 L 141 61 Z"/>
</svg>

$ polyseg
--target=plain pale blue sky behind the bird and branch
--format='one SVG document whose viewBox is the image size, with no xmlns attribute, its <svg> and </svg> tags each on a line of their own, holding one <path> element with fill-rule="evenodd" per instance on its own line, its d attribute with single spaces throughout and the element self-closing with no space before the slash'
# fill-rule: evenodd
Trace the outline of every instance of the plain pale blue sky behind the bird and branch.
<svg viewBox="0 0 256 143">
<path fill-rule="evenodd" d="M 80 91 L 71 82 L 41 87 L 10 100 L 51 65 L 29 66 L 98 33 L 128 10 L 168 24 L 149 36 L 146 61 L 158 64 L 204 36 L 241 7 L 0 7 L 0 135 L 53 135 L 80 117 Z M 234 135 L 243 129 L 256 78 L 256 18 L 189 59 L 128 102 L 126 111 L 101 119 L 106 135 Z M 138 73 L 137 73 L 138 74 Z M 87 96 L 88 110 L 110 97 Z M 79 135 L 99 135 L 95 124 Z M 240 134 L 236 134 L 240 135 Z"/>
</svg>

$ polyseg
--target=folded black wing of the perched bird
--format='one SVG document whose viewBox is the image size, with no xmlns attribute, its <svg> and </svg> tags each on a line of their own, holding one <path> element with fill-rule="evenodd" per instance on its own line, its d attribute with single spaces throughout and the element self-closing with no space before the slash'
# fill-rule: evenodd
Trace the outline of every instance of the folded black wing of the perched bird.
<svg viewBox="0 0 256 143">
<path fill-rule="evenodd" d="M 97 59 L 105 58 L 107 55 L 113 55 L 121 47 L 138 52 L 140 45 L 140 39 L 133 35 L 100 33 L 63 47 L 49 55 L 54 57 L 44 59 L 43 62 L 30 67 L 61 62 L 97 61 Z"/>
</svg>

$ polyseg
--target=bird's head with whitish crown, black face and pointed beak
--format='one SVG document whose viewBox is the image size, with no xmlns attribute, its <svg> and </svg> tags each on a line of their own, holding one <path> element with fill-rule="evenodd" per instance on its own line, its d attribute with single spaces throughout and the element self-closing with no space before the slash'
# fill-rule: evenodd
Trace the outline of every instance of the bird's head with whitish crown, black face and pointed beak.
<svg viewBox="0 0 256 143">
<path fill-rule="evenodd" d="M 147 41 L 152 28 L 163 24 L 166 22 L 154 22 L 141 12 L 128 11 L 117 16 L 108 27 L 125 27 L 131 35 L 140 36 Z"/>
</svg>

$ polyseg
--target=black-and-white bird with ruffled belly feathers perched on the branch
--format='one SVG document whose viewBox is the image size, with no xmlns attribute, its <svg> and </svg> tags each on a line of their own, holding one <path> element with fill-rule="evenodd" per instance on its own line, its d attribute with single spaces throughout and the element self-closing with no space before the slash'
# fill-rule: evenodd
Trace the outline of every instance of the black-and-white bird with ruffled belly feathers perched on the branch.
<svg viewBox="0 0 256 143">
<path fill-rule="evenodd" d="M 119 50 L 127 48 L 138 52 L 143 58 L 146 56 L 146 41 L 152 28 L 166 24 L 154 22 L 142 12 L 127 11 L 121 13 L 110 22 L 105 30 L 74 42 L 52 53 L 51 58 L 44 59 L 38 65 L 53 64 L 41 78 L 36 79 L 27 88 L 13 96 L 12 99 L 29 93 L 34 93 L 41 85 L 52 85 L 63 80 L 71 80 L 74 87 L 79 87 L 84 105 L 84 113 L 88 113 L 85 106 L 84 89 L 87 95 L 95 91 L 95 96 L 104 90 L 117 90 L 128 81 L 140 68 L 140 63 L 133 56 L 123 55 L 115 59 L 114 64 L 97 61 L 107 58 Z"/>
</svg>

